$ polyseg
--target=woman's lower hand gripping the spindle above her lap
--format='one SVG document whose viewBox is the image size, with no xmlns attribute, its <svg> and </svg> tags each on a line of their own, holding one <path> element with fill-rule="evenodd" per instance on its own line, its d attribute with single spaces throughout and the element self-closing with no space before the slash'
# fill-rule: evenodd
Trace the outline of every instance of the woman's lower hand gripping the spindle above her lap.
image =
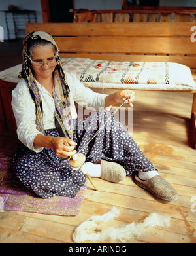
<svg viewBox="0 0 196 256">
<path fill-rule="evenodd" d="M 54 149 L 56 156 L 67 158 L 76 154 L 77 143 L 73 139 L 65 137 L 51 137 L 52 148 Z"/>
</svg>

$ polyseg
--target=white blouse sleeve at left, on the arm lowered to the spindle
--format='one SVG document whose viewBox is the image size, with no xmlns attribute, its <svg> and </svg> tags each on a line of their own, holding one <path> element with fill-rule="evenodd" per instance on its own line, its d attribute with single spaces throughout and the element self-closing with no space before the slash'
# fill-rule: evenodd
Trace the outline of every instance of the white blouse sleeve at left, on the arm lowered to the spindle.
<svg viewBox="0 0 196 256">
<path fill-rule="evenodd" d="M 12 109 L 17 125 L 18 139 L 29 149 L 40 152 L 43 147 L 34 147 L 33 141 L 37 134 L 35 103 L 24 80 L 20 81 L 12 91 Z"/>
</svg>

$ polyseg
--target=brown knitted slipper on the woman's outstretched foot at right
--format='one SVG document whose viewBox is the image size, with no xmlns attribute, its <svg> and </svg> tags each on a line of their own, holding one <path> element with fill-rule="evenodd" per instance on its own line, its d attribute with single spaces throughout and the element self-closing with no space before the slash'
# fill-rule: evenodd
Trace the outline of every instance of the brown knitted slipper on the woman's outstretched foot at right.
<svg viewBox="0 0 196 256">
<path fill-rule="evenodd" d="M 174 201 L 178 199 L 178 192 L 176 189 L 174 189 L 169 182 L 163 179 L 160 175 L 147 179 L 146 181 L 142 181 L 137 175 L 135 175 L 134 180 L 137 185 L 152 192 L 152 194 L 158 198 L 167 201 Z"/>
</svg>

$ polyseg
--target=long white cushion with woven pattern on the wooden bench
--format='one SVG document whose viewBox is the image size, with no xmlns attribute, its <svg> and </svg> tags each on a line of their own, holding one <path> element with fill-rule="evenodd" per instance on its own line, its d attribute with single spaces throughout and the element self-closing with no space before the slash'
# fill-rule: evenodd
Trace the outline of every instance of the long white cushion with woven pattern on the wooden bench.
<svg viewBox="0 0 196 256">
<path fill-rule="evenodd" d="M 132 90 L 195 90 L 191 70 L 174 62 L 114 62 L 90 58 L 61 58 L 63 70 L 91 88 Z M 0 79 L 19 82 L 22 64 L 0 72 Z"/>
</svg>

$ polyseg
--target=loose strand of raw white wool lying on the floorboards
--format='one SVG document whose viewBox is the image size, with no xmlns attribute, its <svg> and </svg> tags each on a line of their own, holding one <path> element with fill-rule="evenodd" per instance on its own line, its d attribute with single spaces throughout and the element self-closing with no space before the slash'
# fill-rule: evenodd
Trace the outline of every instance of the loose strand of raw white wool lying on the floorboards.
<svg viewBox="0 0 196 256">
<path fill-rule="evenodd" d="M 103 215 L 92 216 L 83 223 L 81 223 L 73 233 L 74 242 L 84 242 L 86 240 L 94 242 L 103 242 L 106 240 L 120 240 L 120 242 L 126 242 L 127 240 L 133 240 L 135 237 L 139 237 L 147 229 L 155 226 L 169 227 L 170 217 L 166 215 L 160 215 L 158 213 L 151 213 L 141 221 L 140 223 L 129 223 L 122 227 L 108 227 L 107 229 L 101 230 L 100 232 L 89 233 L 88 231 L 93 229 L 96 230 L 99 223 L 106 223 L 110 219 L 114 219 L 120 214 L 120 210 L 116 207 L 108 211 Z M 87 233 L 88 232 L 88 233 Z"/>
</svg>

